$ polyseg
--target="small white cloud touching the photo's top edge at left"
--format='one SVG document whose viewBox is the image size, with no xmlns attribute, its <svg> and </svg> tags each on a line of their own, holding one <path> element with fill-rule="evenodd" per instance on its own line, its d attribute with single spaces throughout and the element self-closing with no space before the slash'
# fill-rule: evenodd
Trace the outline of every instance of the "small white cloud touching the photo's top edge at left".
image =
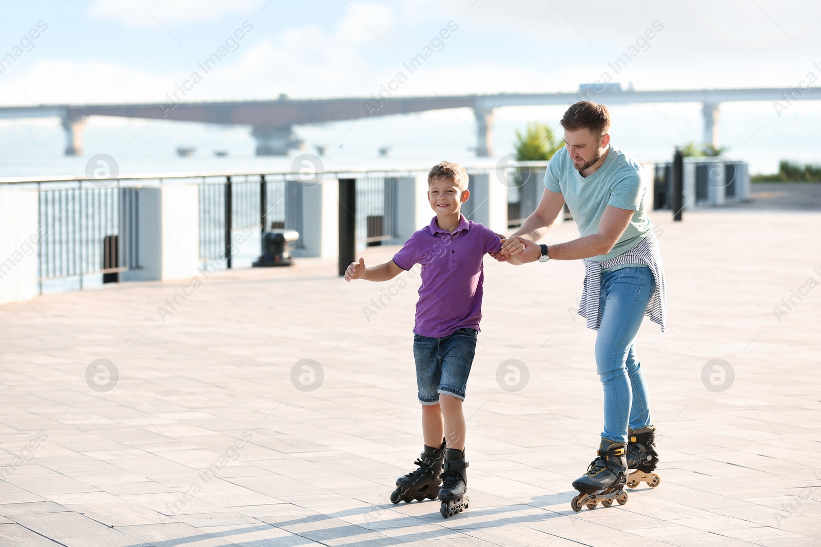
<svg viewBox="0 0 821 547">
<path fill-rule="evenodd" d="M 130 27 L 157 29 L 160 25 L 195 25 L 223 16 L 264 7 L 263 0 L 96 0 L 89 15 Z"/>
</svg>

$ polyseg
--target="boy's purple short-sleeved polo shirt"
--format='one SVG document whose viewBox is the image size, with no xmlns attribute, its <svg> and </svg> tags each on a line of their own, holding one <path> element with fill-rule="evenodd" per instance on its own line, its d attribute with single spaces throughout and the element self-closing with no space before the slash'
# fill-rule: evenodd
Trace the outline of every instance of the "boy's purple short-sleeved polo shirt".
<svg viewBox="0 0 821 547">
<path fill-rule="evenodd" d="M 498 253 L 502 240 L 493 230 L 459 216 L 453 233 L 440 229 L 436 217 L 416 230 L 393 262 L 403 270 L 421 264 L 422 286 L 416 303 L 417 335 L 443 338 L 463 327 L 479 330 L 485 253 Z"/>
</svg>

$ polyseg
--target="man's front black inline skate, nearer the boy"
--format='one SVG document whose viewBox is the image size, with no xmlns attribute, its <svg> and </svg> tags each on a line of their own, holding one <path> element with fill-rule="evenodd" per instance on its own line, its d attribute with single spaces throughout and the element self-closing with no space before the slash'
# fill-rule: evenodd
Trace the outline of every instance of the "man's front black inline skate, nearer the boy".
<svg viewBox="0 0 821 547">
<path fill-rule="evenodd" d="M 625 446 L 625 443 L 602 439 L 599 454 L 590 462 L 587 472 L 573 481 L 573 488 L 579 490 L 579 495 L 570 503 L 574 511 L 579 512 L 582 505 L 594 509 L 599 502 L 604 507 L 610 507 L 613 499 L 619 505 L 627 503 L 627 493 L 624 491 L 627 473 Z"/>
</svg>

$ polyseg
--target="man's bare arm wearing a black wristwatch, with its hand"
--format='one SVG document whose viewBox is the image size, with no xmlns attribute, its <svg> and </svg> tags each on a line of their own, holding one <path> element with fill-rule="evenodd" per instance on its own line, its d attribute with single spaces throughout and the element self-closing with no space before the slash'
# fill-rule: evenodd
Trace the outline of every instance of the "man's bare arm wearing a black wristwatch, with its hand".
<svg viewBox="0 0 821 547">
<path fill-rule="evenodd" d="M 550 259 L 577 260 L 579 258 L 597 257 L 600 254 L 609 253 L 617 244 L 624 230 L 630 225 L 630 220 L 634 212 L 635 211 L 631 209 L 620 209 L 612 205 L 604 207 L 602 218 L 599 221 L 598 232 L 573 239 L 567 243 L 550 245 L 548 247 Z M 539 245 L 525 238 L 520 238 L 519 240 L 524 246 L 524 249 L 518 253 L 511 253 L 511 256 L 517 255 L 516 258 L 521 262 L 535 262 L 539 260 L 539 256 L 542 254 Z"/>
</svg>

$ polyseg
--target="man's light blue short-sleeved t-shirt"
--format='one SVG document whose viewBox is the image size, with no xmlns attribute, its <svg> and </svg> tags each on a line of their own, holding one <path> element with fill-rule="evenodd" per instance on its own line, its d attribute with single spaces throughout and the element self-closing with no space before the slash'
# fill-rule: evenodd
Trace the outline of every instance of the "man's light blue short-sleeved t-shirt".
<svg viewBox="0 0 821 547">
<path fill-rule="evenodd" d="M 641 165 L 612 144 L 602 166 L 587 177 L 576 171 L 567 148 L 562 147 L 553 154 L 548 163 L 547 172 L 544 174 L 544 187 L 564 196 L 567 208 L 579 226 L 580 237 L 599 231 L 599 221 L 604 207 L 608 205 L 635 211 L 630 224 L 612 250 L 587 260 L 604 262 L 617 257 L 640 244 L 649 235 L 650 230 L 653 230 L 653 223 L 650 222 L 645 210 L 647 188 L 641 181 Z M 625 266 L 631 265 L 621 267 Z"/>
</svg>

